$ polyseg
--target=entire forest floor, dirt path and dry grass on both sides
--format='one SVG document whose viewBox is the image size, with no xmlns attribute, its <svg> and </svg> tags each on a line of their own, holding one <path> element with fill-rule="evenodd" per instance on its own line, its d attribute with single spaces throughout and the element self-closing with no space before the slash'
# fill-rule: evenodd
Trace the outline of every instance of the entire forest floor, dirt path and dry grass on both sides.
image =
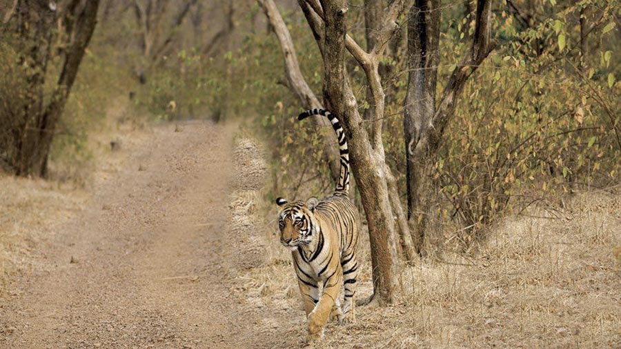
<svg viewBox="0 0 621 349">
<path fill-rule="evenodd" d="M 306 346 L 261 146 L 203 121 L 122 140 L 88 190 L 0 177 L 0 348 Z M 620 347 L 621 197 L 531 214 L 473 255 L 404 266 L 402 300 L 328 324 L 318 347 Z"/>
</svg>

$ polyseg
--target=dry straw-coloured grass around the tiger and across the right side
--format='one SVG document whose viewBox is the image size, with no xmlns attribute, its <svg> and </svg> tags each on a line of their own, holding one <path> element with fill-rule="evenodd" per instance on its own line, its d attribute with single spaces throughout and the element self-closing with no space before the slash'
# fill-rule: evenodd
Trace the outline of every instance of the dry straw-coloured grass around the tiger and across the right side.
<svg viewBox="0 0 621 349">
<path fill-rule="evenodd" d="M 287 326 L 302 338 L 304 311 L 290 254 L 277 241 L 277 210 L 259 206 L 266 262 L 240 277 L 247 301 L 288 310 Z M 319 348 L 621 347 L 621 196 L 584 193 L 567 207 L 504 219 L 472 255 L 444 250 L 404 266 L 400 303 L 359 308 L 349 326 L 329 324 Z M 365 297 L 368 239 L 359 250 L 357 294 Z"/>
</svg>

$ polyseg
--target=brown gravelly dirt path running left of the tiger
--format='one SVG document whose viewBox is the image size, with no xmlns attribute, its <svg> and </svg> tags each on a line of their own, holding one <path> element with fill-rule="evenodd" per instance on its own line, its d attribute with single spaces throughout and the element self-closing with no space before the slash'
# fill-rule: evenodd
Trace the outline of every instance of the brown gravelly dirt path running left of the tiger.
<svg viewBox="0 0 621 349">
<path fill-rule="evenodd" d="M 0 299 L 0 348 L 295 345 L 284 312 L 235 290 L 232 134 L 192 122 L 123 148 L 122 169 L 41 247 L 47 267 Z"/>
</svg>

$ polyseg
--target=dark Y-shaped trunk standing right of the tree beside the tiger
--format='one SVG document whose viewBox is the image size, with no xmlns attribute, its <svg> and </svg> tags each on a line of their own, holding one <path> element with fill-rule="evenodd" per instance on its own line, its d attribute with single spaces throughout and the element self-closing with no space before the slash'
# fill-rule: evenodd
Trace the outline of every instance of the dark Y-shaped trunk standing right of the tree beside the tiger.
<svg viewBox="0 0 621 349">
<path fill-rule="evenodd" d="M 453 70 L 435 108 L 440 1 L 416 1 L 408 19 L 408 91 L 404 101 L 408 159 L 408 217 L 419 251 L 436 228 L 437 186 L 433 165 L 444 129 L 455 112 L 464 84 L 493 49 L 490 43 L 491 0 L 477 0 L 471 48 Z M 437 18 L 436 18 L 437 16 Z"/>
</svg>

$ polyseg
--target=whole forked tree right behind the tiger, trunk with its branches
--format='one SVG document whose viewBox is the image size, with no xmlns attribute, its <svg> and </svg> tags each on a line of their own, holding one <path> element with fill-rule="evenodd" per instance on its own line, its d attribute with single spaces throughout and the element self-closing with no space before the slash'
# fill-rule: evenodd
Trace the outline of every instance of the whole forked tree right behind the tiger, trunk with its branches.
<svg viewBox="0 0 621 349">
<path fill-rule="evenodd" d="M 392 303 L 397 292 L 397 243 L 396 227 L 391 209 L 386 181 L 386 161 L 382 143 L 382 117 L 384 116 L 384 90 L 378 72 L 382 54 L 395 30 L 397 18 L 405 10 L 404 1 L 392 1 L 382 12 L 376 44 L 368 52 L 346 34 L 346 1 L 307 1 L 319 18 L 324 19 L 321 28 L 313 28 L 320 48 L 324 52 L 324 96 L 332 111 L 342 120 L 348 135 L 351 166 L 366 214 L 371 243 L 373 289 L 379 303 Z M 308 17 L 307 17 L 308 18 Z M 311 27 L 315 21 L 308 21 Z M 371 89 L 371 132 L 362 126 L 351 83 L 344 65 L 347 50 L 363 68 Z"/>
</svg>

